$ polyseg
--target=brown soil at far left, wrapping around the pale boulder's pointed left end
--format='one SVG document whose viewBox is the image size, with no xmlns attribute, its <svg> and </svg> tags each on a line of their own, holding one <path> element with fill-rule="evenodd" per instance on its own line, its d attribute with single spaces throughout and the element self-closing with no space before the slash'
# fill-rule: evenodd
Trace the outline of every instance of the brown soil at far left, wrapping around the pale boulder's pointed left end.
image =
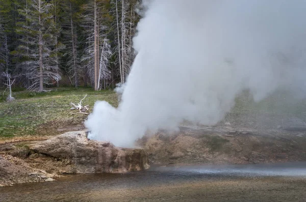
<svg viewBox="0 0 306 202">
<path fill-rule="evenodd" d="M 68 131 L 83 129 L 84 125 L 79 123 L 53 121 L 39 126 L 35 135 L 0 139 L 0 187 L 62 177 L 66 174 L 63 170 L 69 170 L 70 162 L 35 154 L 28 146 Z"/>
</svg>

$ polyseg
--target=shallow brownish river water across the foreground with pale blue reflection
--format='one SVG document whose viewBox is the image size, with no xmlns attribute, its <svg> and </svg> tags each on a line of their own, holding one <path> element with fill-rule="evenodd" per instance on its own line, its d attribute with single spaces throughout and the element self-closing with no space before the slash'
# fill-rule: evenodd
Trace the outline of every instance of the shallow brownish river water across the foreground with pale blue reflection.
<svg viewBox="0 0 306 202">
<path fill-rule="evenodd" d="M 306 163 L 152 166 L 0 188 L 0 201 L 306 201 Z"/>
</svg>

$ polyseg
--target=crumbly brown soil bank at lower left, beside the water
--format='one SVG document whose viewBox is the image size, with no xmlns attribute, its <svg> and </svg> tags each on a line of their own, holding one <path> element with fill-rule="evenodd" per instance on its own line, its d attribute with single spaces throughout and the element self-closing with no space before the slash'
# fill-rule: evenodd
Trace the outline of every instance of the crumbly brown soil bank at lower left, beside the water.
<svg viewBox="0 0 306 202">
<path fill-rule="evenodd" d="M 27 144 L 34 141 L 0 145 L 0 187 L 40 182 L 61 177 L 69 166 L 64 160 L 32 153 Z"/>
</svg>

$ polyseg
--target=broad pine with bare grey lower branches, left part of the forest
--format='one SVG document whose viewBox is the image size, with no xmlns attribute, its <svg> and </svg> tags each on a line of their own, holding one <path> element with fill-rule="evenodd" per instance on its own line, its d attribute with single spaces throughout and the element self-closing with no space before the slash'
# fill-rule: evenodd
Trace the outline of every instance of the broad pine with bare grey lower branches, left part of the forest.
<svg viewBox="0 0 306 202">
<path fill-rule="evenodd" d="M 24 16 L 25 22 L 19 23 L 17 32 L 23 37 L 20 40 L 18 53 L 25 59 L 23 62 L 27 79 L 31 81 L 29 90 L 44 91 L 44 84 L 53 84 L 58 81 L 58 65 L 53 5 L 44 0 L 28 0 L 27 7 L 20 9 L 19 14 Z"/>
</svg>

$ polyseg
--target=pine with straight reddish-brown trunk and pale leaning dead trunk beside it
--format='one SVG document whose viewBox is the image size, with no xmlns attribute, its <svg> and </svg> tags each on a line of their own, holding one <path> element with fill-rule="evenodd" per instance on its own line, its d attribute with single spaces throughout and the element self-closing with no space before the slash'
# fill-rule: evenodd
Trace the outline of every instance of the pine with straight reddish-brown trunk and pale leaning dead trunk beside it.
<svg viewBox="0 0 306 202">
<path fill-rule="evenodd" d="M 103 1 L 90 1 L 83 6 L 86 11 L 82 15 L 86 48 L 82 57 L 83 67 L 92 81 L 95 90 L 106 88 L 111 78 L 109 59 L 112 54 L 109 34 L 109 21 L 107 3 Z M 103 81 L 103 82 L 101 82 Z"/>
</svg>

